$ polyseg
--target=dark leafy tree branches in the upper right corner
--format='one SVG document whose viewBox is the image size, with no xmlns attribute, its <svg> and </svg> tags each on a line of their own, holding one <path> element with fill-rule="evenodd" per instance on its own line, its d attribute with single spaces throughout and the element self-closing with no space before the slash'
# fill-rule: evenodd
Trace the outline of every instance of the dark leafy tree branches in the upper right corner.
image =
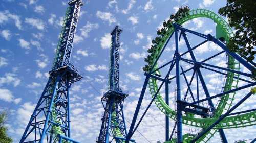
<svg viewBox="0 0 256 143">
<path fill-rule="evenodd" d="M 247 61 L 252 61 L 256 54 L 255 8 L 255 0 L 227 0 L 226 6 L 219 9 L 222 16 L 228 17 L 229 26 L 236 30 L 227 44 L 229 50 L 239 53 Z"/>
</svg>

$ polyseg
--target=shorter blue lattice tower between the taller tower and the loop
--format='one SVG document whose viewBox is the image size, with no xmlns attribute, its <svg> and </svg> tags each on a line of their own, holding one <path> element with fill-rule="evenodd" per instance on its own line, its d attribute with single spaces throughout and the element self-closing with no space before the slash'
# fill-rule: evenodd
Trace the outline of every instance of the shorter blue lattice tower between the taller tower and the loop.
<svg viewBox="0 0 256 143">
<path fill-rule="evenodd" d="M 123 114 L 123 101 L 128 96 L 119 88 L 119 47 L 121 29 L 116 26 L 112 32 L 109 67 L 109 90 L 101 98 L 105 109 L 101 118 L 97 143 L 124 142 L 126 126 Z M 131 140 L 134 142 L 134 140 Z"/>
</svg>

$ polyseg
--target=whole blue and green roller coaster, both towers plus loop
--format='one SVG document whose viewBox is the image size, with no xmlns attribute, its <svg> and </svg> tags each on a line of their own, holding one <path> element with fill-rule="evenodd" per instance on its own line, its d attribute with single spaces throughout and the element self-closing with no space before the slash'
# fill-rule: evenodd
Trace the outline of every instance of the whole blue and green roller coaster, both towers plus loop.
<svg viewBox="0 0 256 143">
<path fill-rule="evenodd" d="M 66 11 L 62 31 L 59 36 L 53 67 L 49 71 L 49 80 L 31 115 L 25 132 L 20 139 L 20 143 L 78 143 L 71 139 L 69 89 L 74 82 L 81 80 L 82 76 L 70 63 L 70 58 L 79 12 L 83 3 L 81 0 L 73 0 L 68 4 L 69 7 Z M 209 18 L 216 23 L 216 37 L 182 27 L 183 23 L 198 17 Z M 135 140 L 131 138 L 153 102 L 155 102 L 159 110 L 166 116 L 166 143 L 208 142 L 216 132 L 219 132 L 222 142 L 227 142 L 223 129 L 256 125 L 256 109 L 233 112 L 233 110 L 239 107 L 246 99 L 252 96 L 252 94 L 256 93 L 256 88 L 254 87 L 256 82 L 248 80 L 251 77 L 255 77 L 256 64 L 253 61 L 248 62 L 239 54 L 229 51 L 226 44 L 229 42 L 230 37 L 233 36 L 232 29 L 228 26 L 228 23 L 217 14 L 206 9 L 190 10 L 188 8 L 180 8 L 177 15 L 171 15 L 167 22 L 164 21 L 163 28 L 157 32 L 159 36 L 152 41 L 153 45 L 151 49 L 148 49 L 148 53 L 151 55 L 148 55 L 145 59 L 148 65 L 143 68 L 145 71 L 144 75 L 146 76 L 144 85 L 129 132 L 127 132 L 123 114 L 123 102 L 128 95 L 123 93 L 119 87 L 119 40 L 121 32 L 122 30 L 118 26 L 111 32 L 109 88 L 101 98 L 105 111 L 101 118 L 102 124 L 96 142 L 135 142 Z M 200 37 L 204 39 L 204 41 L 195 46 L 191 46 L 187 33 L 195 37 Z M 175 39 L 174 56 L 168 62 L 158 67 L 159 58 L 163 55 L 165 47 L 172 36 L 174 36 Z M 181 37 L 183 37 L 187 47 L 185 52 L 182 52 L 179 46 Z M 206 42 L 213 42 L 221 48 L 221 51 L 210 57 L 205 57 L 203 60 L 198 60 L 194 51 Z M 209 60 L 223 53 L 227 55 L 226 67 L 210 64 Z M 191 58 L 185 58 L 184 55 L 186 54 L 189 54 Z M 185 69 L 183 63 L 189 64 L 191 67 Z M 248 69 L 250 73 L 241 71 L 241 65 Z M 167 71 L 162 72 L 163 69 L 167 69 Z M 220 93 L 212 95 L 212 93 L 209 92 L 208 84 L 202 74 L 202 70 L 208 70 L 225 76 L 223 90 Z M 189 75 L 191 77 L 190 81 L 188 80 L 189 72 L 191 73 L 191 75 Z M 196 78 L 196 94 L 191 90 L 193 88 L 195 89 L 195 87 L 191 86 L 194 78 Z M 182 98 L 181 91 L 182 81 L 184 85 L 187 86 L 184 99 Z M 240 87 L 238 87 L 239 81 L 244 82 Z M 201 84 L 199 84 L 199 82 Z M 171 83 L 174 83 L 175 87 L 177 87 L 175 94 L 171 95 L 177 99 L 175 109 L 169 107 L 169 86 Z M 165 101 L 160 95 L 160 90 L 164 84 Z M 143 112 L 137 125 L 135 125 L 147 85 L 152 100 Z M 206 98 L 199 98 L 199 88 L 203 89 Z M 236 93 L 243 89 L 249 89 L 246 90 L 248 93 L 233 105 Z M 188 93 L 190 93 L 191 99 L 193 99 L 191 102 L 186 100 Z M 244 92 L 240 92 L 240 94 L 241 93 Z M 212 101 L 215 98 L 220 98 L 219 102 L 216 104 Z M 204 106 L 202 104 L 204 102 L 207 102 L 209 106 Z M 173 131 L 170 135 L 169 118 L 175 121 Z M 200 131 L 196 134 L 183 134 L 182 125 L 197 127 L 200 128 Z M 177 136 L 174 136 L 175 130 Z M 253 141 L 255 142 L 256 139 Z"/>
</svg>

